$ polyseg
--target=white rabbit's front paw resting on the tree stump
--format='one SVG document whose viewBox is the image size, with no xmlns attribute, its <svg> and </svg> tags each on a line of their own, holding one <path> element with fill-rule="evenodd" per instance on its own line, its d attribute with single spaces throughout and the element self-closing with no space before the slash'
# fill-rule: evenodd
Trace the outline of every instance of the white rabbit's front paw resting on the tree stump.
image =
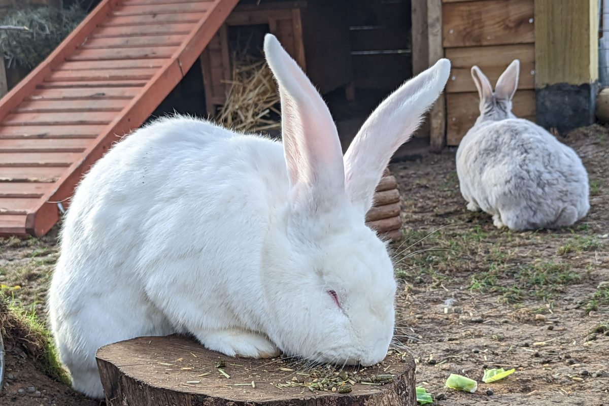
<svg viewBox="0 0 609 406">
<path fill-rule="evenodd" d="M 272 358 L 280 349 L 264 335 L 239 329 L 227 329 L 197 335 L 199 341 L 213 351 L 230 357 Z"/>
</svg>

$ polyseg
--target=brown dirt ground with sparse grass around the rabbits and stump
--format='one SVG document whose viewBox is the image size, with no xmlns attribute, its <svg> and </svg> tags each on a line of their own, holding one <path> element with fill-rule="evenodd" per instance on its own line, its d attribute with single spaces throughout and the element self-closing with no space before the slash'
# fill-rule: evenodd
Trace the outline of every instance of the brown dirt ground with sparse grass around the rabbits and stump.
<svg viewBox="0 0 609 406">
<path fill-rule="evenodd" d="M 417 359 L 417 383 L 437 405 L 584 405 L 609 401 L 609 130 L 561 141 L 588 169 L 591 210 L 558 231 L 512 233 L 469 212 L 454 150 L 392 164 L 404 242 L 394 248 L 400 293 L 396 340 Z M 44 320 L 57 230 L 0 241 L 0 284 Z M 0 405 L 93 406 L 40 371 L 24 343 L 7 340 Z M 484 368 L 516 368 L 476 393 L 444 388 L 450 373 L 481 382 Z"/>
</svg>

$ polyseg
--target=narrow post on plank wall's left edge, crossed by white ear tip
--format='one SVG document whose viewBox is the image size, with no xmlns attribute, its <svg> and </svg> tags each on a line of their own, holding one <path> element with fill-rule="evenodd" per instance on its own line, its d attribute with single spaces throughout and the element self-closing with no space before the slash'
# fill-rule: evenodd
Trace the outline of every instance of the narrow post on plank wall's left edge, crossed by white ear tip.
<svg viewBox="0 0 609 406">
<path fill-rule="evenodd" d="M 444 57 L 442 45 L 442 0 L 427 0 L 427 30 L 429 66 Z M 446 139 L 446 99 L 440 94 L 429 114 L 429 144 L 432 151 L 440 151 Z"/>
</svg>

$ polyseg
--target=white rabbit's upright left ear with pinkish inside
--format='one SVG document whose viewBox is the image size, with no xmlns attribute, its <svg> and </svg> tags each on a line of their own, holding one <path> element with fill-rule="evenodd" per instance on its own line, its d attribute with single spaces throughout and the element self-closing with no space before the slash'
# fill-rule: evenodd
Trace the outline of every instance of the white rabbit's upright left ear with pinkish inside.
<svg viewBox="0 0 609 406">
<path fill-rule="evenodd" d="M 264 54 L 281 96 L 281 138 L 292 196 L 315 209 L 336 208 L 335 198 L 345 194 L 345 175 L 330 111 L 272 34 L 264 37 Z"/>
</svg>

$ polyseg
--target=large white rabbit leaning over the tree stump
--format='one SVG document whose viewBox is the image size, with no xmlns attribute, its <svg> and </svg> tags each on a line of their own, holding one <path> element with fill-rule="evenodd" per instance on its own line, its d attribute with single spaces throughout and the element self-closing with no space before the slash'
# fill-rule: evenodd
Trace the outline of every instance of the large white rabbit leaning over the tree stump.
<svg viewBox="0 0 609 406">
<path fill-rule="evenodd" d="M 309 79 L 272 35 L 264 53 L 280 89 L 283 145 L 161 119 L 114 145 L 77 188 L 49 296 L 76 390 L 103 396 L 100 346 L 175 332 L 231 356 L 384 359 L 396 283 L 364 217 L 450 64 L 438 61 L 384 100 L 343 160 Z"/>
</svg>

